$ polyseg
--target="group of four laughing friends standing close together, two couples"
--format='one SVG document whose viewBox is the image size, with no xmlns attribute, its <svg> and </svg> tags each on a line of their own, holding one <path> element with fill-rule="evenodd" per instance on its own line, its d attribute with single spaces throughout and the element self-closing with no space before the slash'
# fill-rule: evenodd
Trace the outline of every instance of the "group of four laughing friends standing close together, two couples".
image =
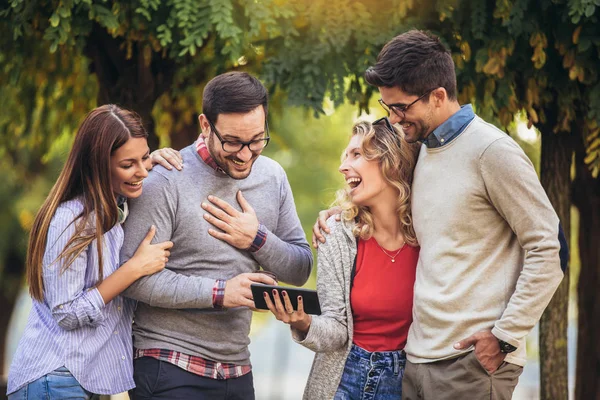
<svg viewBox="0 0 600 400">
<path fill-rule="evenodd" d="M 322 313 L 265 297 L 316 353 L 304 398 L 510 399 L 567 267 L 559 219 L 516 142 L 458 103 L 439 38 L 393 38 L 365 80 L 388 117 L 355 123 L 313 228 Z M 261 155 L 267 114 L 261 82 L 230 72 L 180 152 L 151 153 L 132 111 L 87 115 L 31 230 L 10 400 L 255 398 L 250 286 L 301 286 L 313 265 Z"/>
</svg>

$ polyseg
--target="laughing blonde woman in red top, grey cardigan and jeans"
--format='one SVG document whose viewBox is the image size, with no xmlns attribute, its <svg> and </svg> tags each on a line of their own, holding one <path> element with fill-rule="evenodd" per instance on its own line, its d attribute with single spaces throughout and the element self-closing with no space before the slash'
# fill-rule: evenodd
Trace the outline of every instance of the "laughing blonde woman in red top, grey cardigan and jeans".
<svg viewBox="0 0 600 400">
<path fill-rule="evenodd" d="M 317 354 L 305 399 L 400 399 L 403 352 L 412 322 L 419 247 L 410 215 L 418 145 L 408 144 L 387 118 L 358 122 L 342 157 L 347 187 L 336 203 L 341 221 L 318 248 L 317 291 L 322 314 L 305 314 L 265 300 L 292 328 L 294 340 Z"/>
</svg>

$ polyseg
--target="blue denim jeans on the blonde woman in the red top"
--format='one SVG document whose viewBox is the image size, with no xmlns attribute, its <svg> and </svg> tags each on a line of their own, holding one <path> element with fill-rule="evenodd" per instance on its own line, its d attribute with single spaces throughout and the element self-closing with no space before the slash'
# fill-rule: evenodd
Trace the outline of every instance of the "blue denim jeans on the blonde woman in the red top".
<svg viewBox="0 0 600 400">
<path fill-rule="evenodd" d="M 353 344 L 335 400 L 399 400 L 402 398 L 404 351 L 370 353 Z"/>
</svg>

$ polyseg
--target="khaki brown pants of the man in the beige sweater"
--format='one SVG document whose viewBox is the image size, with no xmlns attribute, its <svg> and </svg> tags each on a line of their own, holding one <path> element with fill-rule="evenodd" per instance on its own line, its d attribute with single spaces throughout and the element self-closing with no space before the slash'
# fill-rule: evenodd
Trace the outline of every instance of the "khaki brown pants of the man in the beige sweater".
<svg viewBox="0 0 600 400">
<path fill-rule="evenodd" d="M 406 362 L 402 400 L 510 400 L 523 367 L 503 362 L 493 374 L 467 355 L 425 364 Z"/>
</svg>

